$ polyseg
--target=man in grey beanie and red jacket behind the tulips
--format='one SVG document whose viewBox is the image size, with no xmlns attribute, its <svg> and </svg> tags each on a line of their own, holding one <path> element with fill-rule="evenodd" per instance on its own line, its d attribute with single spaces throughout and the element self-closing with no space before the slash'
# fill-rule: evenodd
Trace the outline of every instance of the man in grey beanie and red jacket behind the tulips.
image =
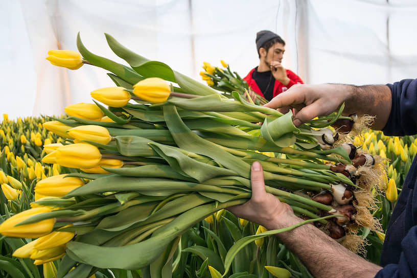
<svg viewBox="0 0 417 278">
<path fill-rule="evenodd" d="M 253 68 L 245 78 L 249 86 L 249 95 L 254 100 L 258 94 L 270 101 L 294 84 L 303 84 L 303 80 L 281 62 L 285 52 L 285 41 L 271 31 L 259 31 L 256 37 L 259 65 Z"/>
</svg>

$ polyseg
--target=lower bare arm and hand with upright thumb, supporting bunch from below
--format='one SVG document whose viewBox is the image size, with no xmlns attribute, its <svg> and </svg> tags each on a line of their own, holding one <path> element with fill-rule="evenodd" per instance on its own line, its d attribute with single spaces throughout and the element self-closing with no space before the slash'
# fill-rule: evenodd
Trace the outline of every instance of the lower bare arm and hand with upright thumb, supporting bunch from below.
<svg viewBox="0 0 417 278">
<path fill-rule="evenodd" d="M 250 180 L 251 199 L 242 205 L 229 207 L 230 212 L 269 230 L 289 227 L 303 221 L 294 215 L 288 204 L 265 192 L 263 170 L 258 161 L 252 164 Z M 276 236 L 304 262 L 315 277 L 367 278 L 374 277 L 381 269 L 344 248 L 311 224 Z"/>
</svg>

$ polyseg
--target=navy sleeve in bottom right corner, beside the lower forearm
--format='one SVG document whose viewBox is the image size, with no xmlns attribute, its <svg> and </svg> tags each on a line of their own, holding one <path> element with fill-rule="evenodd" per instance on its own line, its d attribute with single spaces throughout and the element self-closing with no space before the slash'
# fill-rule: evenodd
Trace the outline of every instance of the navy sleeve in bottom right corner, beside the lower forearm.
<svg viewBox="0 0 417 278">
<path fill-rule="evenodd" d="M 402 252 L 398 264 L 389 264 L 375 278 L 417 277 L 417 226 L 413 226 L 401 242 Z"/>
</svg>

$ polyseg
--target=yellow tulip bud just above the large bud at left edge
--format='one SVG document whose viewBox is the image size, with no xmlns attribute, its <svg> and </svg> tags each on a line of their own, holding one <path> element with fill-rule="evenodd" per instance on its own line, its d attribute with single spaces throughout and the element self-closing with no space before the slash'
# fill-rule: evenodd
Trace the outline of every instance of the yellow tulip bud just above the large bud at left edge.
<svg viewBox="0 0 417 278">
<path fill-rule="evenodd" d="M 35 193 L 44 196 L 62 197 L 68 192 L 84 185 L 81 178 L 65 177 L 67 174 L 51 176 L 36 183 Z"/>
</svg>

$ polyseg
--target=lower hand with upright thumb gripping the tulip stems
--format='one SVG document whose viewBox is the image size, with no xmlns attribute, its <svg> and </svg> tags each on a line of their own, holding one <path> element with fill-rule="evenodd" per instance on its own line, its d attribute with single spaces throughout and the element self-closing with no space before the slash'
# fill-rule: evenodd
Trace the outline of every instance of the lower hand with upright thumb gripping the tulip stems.
<svg viewBox="0 0 417 278">
<path fill-rule="evenodd" d="M 252 164 L 250 182 L 252 197 L 244 204 L 227 208 L 231 213 L 258 223 L 269 230 L 291 226 L 302 221 L 294 215 L 288 204 L 280 202 L 274 195 L 265 192 L 264 172 L 258 161 Z"/>
</svg>

